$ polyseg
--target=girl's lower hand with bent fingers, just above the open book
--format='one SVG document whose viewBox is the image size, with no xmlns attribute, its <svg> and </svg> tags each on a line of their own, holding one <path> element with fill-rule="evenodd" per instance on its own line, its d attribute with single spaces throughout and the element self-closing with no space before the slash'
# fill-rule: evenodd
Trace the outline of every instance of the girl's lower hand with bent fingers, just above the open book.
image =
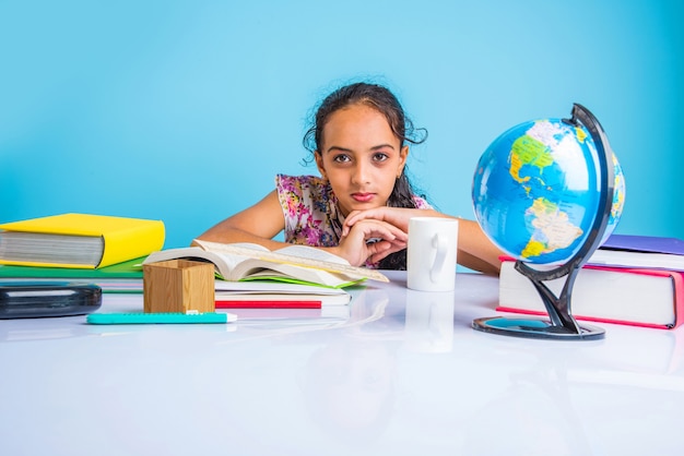
<svg viewBox="0 0 684 456">
<path fill-rule="evenodd" d="M 366 261 L 376 263 L 387 255 L 406 248 L 405 231 L 386 221 L 359 219 L 340 239 L 335 253 L 353 266 L 363 266 Z"/>
</svg>

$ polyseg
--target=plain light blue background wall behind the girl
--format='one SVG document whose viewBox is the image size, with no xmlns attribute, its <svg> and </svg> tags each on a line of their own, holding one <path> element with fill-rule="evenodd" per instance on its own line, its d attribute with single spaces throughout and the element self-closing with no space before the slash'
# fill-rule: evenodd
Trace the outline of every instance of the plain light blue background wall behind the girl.
<svg viewBox="0 0 684 456">
<path fill-rule="evenodd" d="M 624 169 L 617 232 L 684 238 L 681 4 L 0 0 L 0 221 L 158 218 L 186 245 L 316 173 L 311 108 L 366 79 L 428 130 L 409 167 L 441 211 L 473 218 L 487 145 L 577 101 Z"/>
</svg>

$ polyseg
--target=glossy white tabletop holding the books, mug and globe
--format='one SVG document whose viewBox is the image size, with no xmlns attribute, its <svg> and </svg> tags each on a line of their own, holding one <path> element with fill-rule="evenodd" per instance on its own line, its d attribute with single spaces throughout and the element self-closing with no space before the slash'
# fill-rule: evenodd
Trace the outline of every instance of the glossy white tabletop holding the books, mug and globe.
<svg viewBox="0 0 684 456">
<path fill-rule="evenodd" d="M 429 293 L 388 275 L 346 320 L 0 321 L 0 454 L 682 454 L 682 329 L 486 334 L 470 325 L 497 314 L 496 278 Z"/>
</svg>

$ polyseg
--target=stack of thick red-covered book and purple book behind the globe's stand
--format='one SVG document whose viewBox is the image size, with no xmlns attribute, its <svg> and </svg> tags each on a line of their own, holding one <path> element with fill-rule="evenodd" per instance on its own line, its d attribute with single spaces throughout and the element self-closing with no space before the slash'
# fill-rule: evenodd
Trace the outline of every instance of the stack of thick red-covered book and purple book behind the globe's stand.
<svg viewBox="0 0 684 456">
<path fill-rule="evenodd" d="M 561 292 L 565 277 L 545 283 Z M 577 275 L 571 291 L 577 320 L 674 328 L 684 323 L 684 241 L 613 235 Z M 532 283 L 504 259 L 498 311 L 545 315 Z"/>
</svg>

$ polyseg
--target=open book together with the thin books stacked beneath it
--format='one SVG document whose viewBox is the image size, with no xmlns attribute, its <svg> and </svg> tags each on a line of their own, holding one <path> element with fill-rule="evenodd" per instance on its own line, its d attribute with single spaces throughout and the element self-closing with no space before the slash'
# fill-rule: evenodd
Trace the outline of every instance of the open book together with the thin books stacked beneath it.
<svg viewBox="0 0 684 456">
<path fill-rule="evenodd" d="M 308 245 L 269 251 L 255 243 L 193 240 L 189 248 L 150 254 L 144 264 L 173 260 L 214 265 L 216 309 L 331 309 L 346 307 L 345 288 L 367 279 L 388 281 L 378 271 L 350 265 L 344 259 Z M 331 311 L 328 311 L 331 312 Z"/>
</svg>

